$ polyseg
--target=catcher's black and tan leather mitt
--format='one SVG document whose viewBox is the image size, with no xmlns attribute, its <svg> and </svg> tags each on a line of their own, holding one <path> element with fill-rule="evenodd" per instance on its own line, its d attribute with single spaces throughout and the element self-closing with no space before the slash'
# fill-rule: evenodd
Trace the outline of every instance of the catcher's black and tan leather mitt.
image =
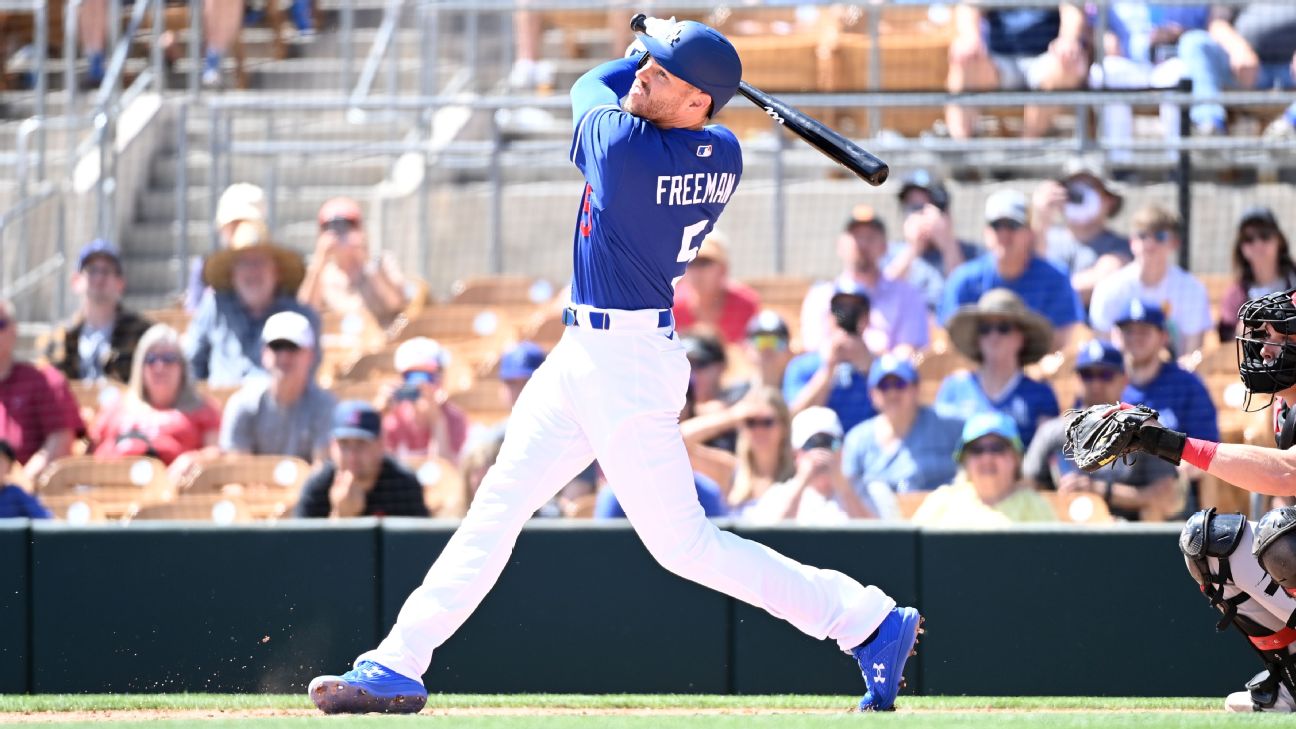
<svg viewBox="0 0 1296 729">
<path fill-rule="evenodd" d="M 1147 425 L 1148 420 L 1156 419 L 1157 412 L 1143 405 L 1125 402 L 1093 405 L 1083 410 L 1068 410 L 1064 415 L 1067 418 L 1064 450 L 1076 466 L 1090 473 L 1122 455 L 1150 450 L 1146 448 L 1147 441 L 1157 444 L 1161 433 L 1172 432 L 1160 423 Z M 1148 433 L 1150 438 L 1140 440 L 1144 428 L 1159 433 Z M 1165 458 L 1161 453 L 1153 453 Z"/>
</svg>

